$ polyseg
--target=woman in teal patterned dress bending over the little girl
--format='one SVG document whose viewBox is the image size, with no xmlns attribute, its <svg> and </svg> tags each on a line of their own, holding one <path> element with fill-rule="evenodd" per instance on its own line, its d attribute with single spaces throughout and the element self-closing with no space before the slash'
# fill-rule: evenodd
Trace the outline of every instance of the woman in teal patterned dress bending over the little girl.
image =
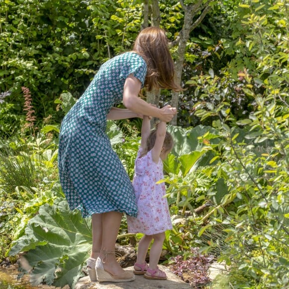
<svg viewBox="0 0 289 289">
<path fill-rule="evenodd" d="M 139 98 L 142 87 L 148 91 L 181 90 L 174 82 L 173 60 L 165 32 L 157 27 L 142 30 L 133 51 L 118 55 L 100 67 L 61 125 L 58 165 L 63 191 L 71 209 L 80 209 L 83 217 L 92 216 L 93 245 L 87 264 L 92 281 L 135 279 L 133 273 L 120 267 L 114 254 L 123 213 L 137 216 L 135 193 L 105 130 L 107 119 L 146 115 L 171 121 L 176 110 L 147 104 Z M 114 108 L 121 101 L 127 109 Z"/>
</svg>

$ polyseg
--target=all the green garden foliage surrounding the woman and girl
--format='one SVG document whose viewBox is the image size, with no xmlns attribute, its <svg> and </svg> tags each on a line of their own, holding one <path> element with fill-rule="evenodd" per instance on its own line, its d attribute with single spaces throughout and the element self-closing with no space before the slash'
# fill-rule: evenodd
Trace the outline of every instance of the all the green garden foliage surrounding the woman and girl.
<svg viewBox="0 0 289 289">
<path fill-rule="evenodd" d="M 60 121 L 101 63 L 131 48 L 142 2 L 0 3 L 0 259 L 27 251 L 34 285 L 73 286 L 89 255 L 90 220 L 69 210 L 58 180 Z M 159 7 L 174 39 L 181 6 Z M 175 146 L 164 161 L 173 222 L 164 248 L 167 262 L 199 247 L 229 265 L 213 288 L 289 286 L 288 9 L 286 1 L 220 1 L 187 44 L 181 126 L 168 126 Z M 22 111 L 22 86 L 36 123 Z M 168 101 L 163 91 L 161 104 Z M 107 128 L 131 178 L 140 125 Z M 121 244 L 126 233 L 123 222 Z"/>
</svg>

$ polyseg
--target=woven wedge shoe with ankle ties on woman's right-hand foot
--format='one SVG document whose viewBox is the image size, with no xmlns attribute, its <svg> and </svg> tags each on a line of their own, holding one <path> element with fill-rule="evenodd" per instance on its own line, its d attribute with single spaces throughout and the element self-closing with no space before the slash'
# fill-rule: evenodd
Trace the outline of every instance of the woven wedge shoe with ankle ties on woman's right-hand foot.
<svg viewBox="0 0 289 289">
<path fill-rule="evenodd" d="M 112 275 L 109 272 L 105 271 L 103 264 L 109 262 L 108 255 L 115 255 L 115 251 L 112 252 L 101 251 L 101 253 L 105 254 L 105 257 L 103 259 L 98 257 L 96 259 L 95 264 L 98 282 L 130 282 L 136 279 L 133 272 L 128 272 L 124 270 L 122 274 Z"/>
</svg>

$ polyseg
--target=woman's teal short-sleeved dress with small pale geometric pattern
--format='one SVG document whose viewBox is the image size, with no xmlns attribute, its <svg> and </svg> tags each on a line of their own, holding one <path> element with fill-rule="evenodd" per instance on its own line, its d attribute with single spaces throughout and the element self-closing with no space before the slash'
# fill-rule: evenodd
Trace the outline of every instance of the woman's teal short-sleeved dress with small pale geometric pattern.
<svg viewBox="0 0 289 289">
<path fill-rule="evenodd" d="M 60 182 L 70 208 L 80 209 L 83 217 L 110 211 L 137 216 L 134 188 L 105 133 L 107 114 L 122 101 L 130 74 L 144 85 L 140 55 L 126 52 L 108 60 L 61 124 Z"/>
</svg>

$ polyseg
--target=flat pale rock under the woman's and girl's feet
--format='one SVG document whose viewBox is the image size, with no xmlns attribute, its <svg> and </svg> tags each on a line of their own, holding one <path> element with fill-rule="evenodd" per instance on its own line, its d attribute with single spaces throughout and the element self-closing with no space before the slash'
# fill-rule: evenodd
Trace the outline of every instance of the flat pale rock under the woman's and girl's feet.
<svg viewBox="0 0 289 289">
<path fill-rule="evenodd" d="M 142 275 L 136 275 L 136 280 L 132 282 L 90 282 L 89 276 L 79 279 L 75 289 L 191 289 L 191 287 L 177 278 L 168 268 L 159 265 L 160 270 L 164 271 L 167 280 L 148 280 Z M 133 271 L 133 267 L 128 267 L 125 270 Z"/>
</svg>

